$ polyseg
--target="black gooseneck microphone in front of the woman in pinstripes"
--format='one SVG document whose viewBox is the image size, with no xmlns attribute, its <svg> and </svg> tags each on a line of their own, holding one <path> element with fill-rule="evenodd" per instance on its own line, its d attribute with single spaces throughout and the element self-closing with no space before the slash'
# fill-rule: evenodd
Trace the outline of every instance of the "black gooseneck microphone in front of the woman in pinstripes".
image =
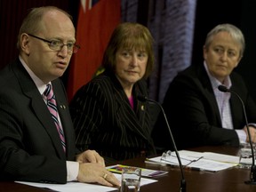
<svg viewBox="0 0 256 192">
<path fill-rule="evenodd" d="M 137 96 L 137 99 L 140 100 L 140 101 L 149 101 L 149 102 L 155 103 L 155 104 L 161 109 L 161 111 L 162 111 L 162 113 L 163 113 L 163 115 L 164 115 L 165 123 L 166 123 L 166 125 L 167 125 L 167 127 L 168 127 L 168 131 L 169 131 L 170 136 L 171 136 L 172 146 L 173 146 L 173 148 L 174 148 L 175 154 L 176 154 L 176 156 L 177 156 L 177 158 L 178 158 L 178 162 L 179 162 L 179 165 L 180 165 L 180 172 L 181 172 L 180 192 L 186 192 L 186 185 L 187 185 L 187 184 L 186 184 L 186 180 L 185 180 L 185 177 L 184 177 L 183 167 L 182 167 L 182 164 L 181 164 L 181 161 L 180 161 L 180 155 L 179 155 L 178 150 L 177 150 L 177 148 L 176 148 L 175 141 L 174 141 L 174 139 L 173 139 L 173 137 L 172 137 L 172 131 L 171 131 L 171 128 L 170 128 L 170 126 L 169 126 L 168 120 L 167 120 L 167 118 L 166 118 L 166 116 L 165 116 L 164 108 L 162 108 L 162 106 L 161 106 L 158 102 L 156 102 L 156 100 L 150 100 L 150 99 L 148 99 L 148 98 L 145 97 L 145 96 L 138 95 L 138 96 Z"/>
</svg>

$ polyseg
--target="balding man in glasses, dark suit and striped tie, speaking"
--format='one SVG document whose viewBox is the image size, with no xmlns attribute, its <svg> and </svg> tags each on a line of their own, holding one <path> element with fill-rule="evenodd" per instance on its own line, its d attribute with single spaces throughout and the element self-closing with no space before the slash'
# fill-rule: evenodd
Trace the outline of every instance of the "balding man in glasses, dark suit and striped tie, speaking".
<svg viewBox="0 0 256 192">
<path fill-rule="evenodd" d="M 119 185 L 96 151 L 81 153 L 75 147 L 66 92 L 59 79 L 79 48 L 71 16 L 52 6 L 32 9 L 20 27 L 17 45 L 19 58 L 0 72 L 1 180 Z M 49 84 L 54 105 L 43 96 Z M 56 113 L 56 105 L 54 121 L 63 140 L 48 109 L 51 106 Z"/>
</svg>

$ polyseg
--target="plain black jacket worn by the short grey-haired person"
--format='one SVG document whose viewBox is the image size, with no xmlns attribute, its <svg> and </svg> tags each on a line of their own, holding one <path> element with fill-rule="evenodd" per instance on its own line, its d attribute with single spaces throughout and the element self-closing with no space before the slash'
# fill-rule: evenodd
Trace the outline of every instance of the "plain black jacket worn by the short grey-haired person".
<svg viewBox="0 0 256 192">
<path fill-rule="evenodd" d="M 237 92 L 244 101 L 248 122 L 256 123 L 256 106 L 244 84 L 244 80 L 235 71 L 231 73 L 231 90 Z M 192 148 L 204 145 L 239 146 L 239 140 L 234 130 L 221 128 L 220 112 L 217 100 L 212 90 L 212 84 L 204 69 L 204 65 L 192 65 L 180 72 L 169 86 L 164 97 L 163 107 L 168 117 L 177 148 Z M 235 94 L 230 98 L 231 114 L 234 129 L 243 129 L 245 125 L 243 108 Z M 163 128 L 163 131 L 161 131 Z M 158 140 L 166 132 L 164 121 L 160 117 L 155 131 Z M 168 135 L 168 133 L 164 133 Z M 170 135 L 170 134 L 169 134 Z M 169 137 L 170 138 L 170 137 Z M 170 140 L 165 138 L 164 140 Z M 164 148 L 171 148 L 169 142 Z"/>
</svg>

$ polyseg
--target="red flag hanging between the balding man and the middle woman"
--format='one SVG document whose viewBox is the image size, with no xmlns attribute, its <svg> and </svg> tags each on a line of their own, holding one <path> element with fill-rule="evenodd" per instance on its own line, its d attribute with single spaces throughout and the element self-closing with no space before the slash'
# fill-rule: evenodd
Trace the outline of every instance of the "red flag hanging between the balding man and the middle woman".
<svg viewBox="0 0 256 192">
<path fill-rule="evenodd" d="M 76 26 L 76 43 L 81 49 L 72 56 L 68 72 L 68 100 L 92 79 L 103 52 L 121 20 L 121 0 L 81 0 Z"/>
</svg>

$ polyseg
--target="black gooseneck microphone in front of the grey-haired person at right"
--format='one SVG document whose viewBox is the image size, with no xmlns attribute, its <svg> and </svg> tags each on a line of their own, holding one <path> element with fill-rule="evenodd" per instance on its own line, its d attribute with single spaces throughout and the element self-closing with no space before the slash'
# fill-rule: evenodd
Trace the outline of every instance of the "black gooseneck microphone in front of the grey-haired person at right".
<svg viewBox="0 0 256 192">
<path fill-rule="evenodd" d="M 246 116 L 246 112 L 245 112 L 245 108 L 244 108 L 244 102 L 243 102 L 243 100 L 240 98 L 240 96 L 236 92 L 228 89 L 226 86 L 219 85 L 218 89 L 220 90 L 220 92 L 234 93 L 236 95 L 236 97 L 240 100 L 241 104 L 242 104 L 243 112 L 244 112 L 244 119 L 245 119 L 245 126 L 246 126 L 246 129 L 247 129 L 247 132 L 248 132 L 249 143 L 250 143 L 250 147 L 251 147 L 251 150 L 252 150 L 252 167 L 251 167 L 250 180 L 245 180 L 244 183 L 256 185 L 255 156 L 254 156 L 254 150 L 253 150 L 253 147 L 252 147 L 251 133 L 249 132 L 249 125 L 248 125 L 247 116 Z"/>
</svg>

